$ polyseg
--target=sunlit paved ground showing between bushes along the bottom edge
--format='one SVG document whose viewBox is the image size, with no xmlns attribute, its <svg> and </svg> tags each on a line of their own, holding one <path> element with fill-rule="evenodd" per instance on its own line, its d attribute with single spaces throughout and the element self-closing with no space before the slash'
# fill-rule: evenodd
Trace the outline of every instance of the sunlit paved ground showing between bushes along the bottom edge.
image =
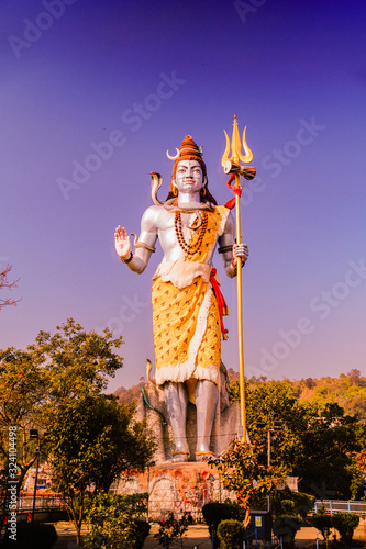
<svg viewBox="0 0 366 549">
<path fill-rule="evenodd" d="M 70 523 L 56 523 L 55 524 L 58 541 L 54 545 L 53 549 L 77 549 L 77 545 L 75 542 L 75 529 Z M 85 533 L 86 529 L 82 528 Z M 151 534 L 144 544 L 143 549 L 158 549 L 162 548 L 159 546 L 158 540 L 154 538 L 154 534 L 157 531 L 157 526 L 154 525 L 151 529 Z M 319 535 L 315 528 L 301 528 L 296 537 L 296 547 L 301 549 L 312 549 L 315 544 L 317 534 L 319 540 L 322 537 Z M 364 539 L 364 546 L 366 547 L 366 525 L 362 524 L 357 530 L 355 531 L 356 539 Z M 332 536 L 331 536 L 332 539 Z M 180 541 L 174 546 L 176 549 L 211 549 L 211 541 L 209 539 L 209 531 L 207 526 L 203 525 L 193 525 L 190 526 L 188 533 L 185 534 L 181 544 Z"/>
</svg>

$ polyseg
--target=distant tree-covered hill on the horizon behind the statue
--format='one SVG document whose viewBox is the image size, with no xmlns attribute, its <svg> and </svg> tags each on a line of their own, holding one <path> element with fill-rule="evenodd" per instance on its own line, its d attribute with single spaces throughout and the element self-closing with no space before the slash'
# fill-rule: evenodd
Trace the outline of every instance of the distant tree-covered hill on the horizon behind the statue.
<svg viewBox="0 0 366 549">
<path fill-rule="evenodd" d="M 237 383 L 239 373 L 232 368 L 229 369 L 229 377 L 232 384 Z M 263 383 L 266 378 L 251 378 L 247 383 Z M 136 401 L 141 394 L 141 388 L 145 385 L 145 378 L 140 379 L 137 385 L 130 389 L 120 386 L 114 391 L 114 395 L 122 402 Z M 361 376 L 359 370 L 350 370 L 348 373 L 341 373 L 339 378 L 307 378 L 301 380 L 285 379 L 282 383 L 290 384 L 300 403 L 310 402 L 320 408 L 329 402 L 336 402 L 345 411 L 345 414 L 358 414 L 359 419 L 366 419 L 366 377 Z"/>
</svg>

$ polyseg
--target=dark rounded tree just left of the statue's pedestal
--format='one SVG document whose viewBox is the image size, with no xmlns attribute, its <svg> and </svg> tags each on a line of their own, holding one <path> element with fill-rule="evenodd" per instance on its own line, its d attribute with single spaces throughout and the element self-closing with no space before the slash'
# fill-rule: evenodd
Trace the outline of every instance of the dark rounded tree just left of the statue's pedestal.
<svg viewBox="0 0 366 549">
<path fill-rule="evenodd" d="M 55 489 L 68 498 L 80 545 L 88 493 L 108 492 L 125 471 L 142 471 L 155 444 L 143 423 L 133 422 L 134 407 L 106 395 L 64 402 L 52 425 L 47 445 Z"/>
</svg>

